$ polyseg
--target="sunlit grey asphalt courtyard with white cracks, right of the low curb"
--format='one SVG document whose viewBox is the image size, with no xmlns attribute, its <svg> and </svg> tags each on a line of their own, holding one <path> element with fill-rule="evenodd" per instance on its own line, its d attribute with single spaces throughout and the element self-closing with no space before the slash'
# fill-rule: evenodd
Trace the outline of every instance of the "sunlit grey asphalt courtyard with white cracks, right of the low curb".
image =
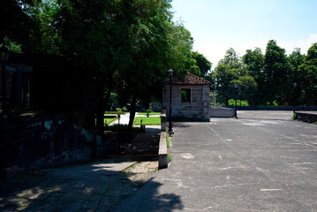
<svg viewBox="0 0 317 212">
<path fill-rule="evenodd" d="M 175 123 L 170 167 L 111 211 L 317 211 L 317 125 L 291 116 Z"/>
</svg>

